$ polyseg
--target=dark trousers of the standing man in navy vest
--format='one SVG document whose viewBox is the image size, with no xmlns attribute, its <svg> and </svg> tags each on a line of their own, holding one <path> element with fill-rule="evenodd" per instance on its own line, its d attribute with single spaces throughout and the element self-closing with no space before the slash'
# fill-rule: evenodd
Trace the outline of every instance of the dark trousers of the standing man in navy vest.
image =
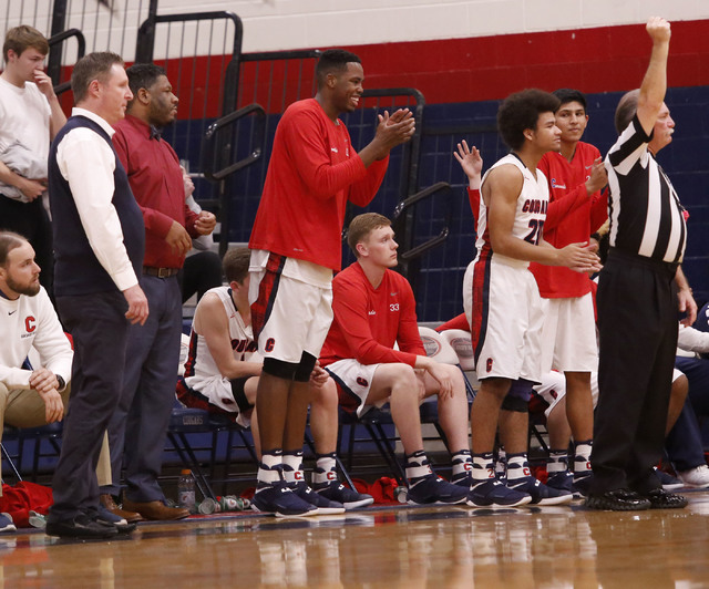
<svg viewBox="0 0 709 589">
<path fill-rule="evenodd" d="M 69 413 L 54 471 L 51 521 L 99 506 L 96 464 L 123 389 L 129 322 L 121 292 L 60 297 L 59 312 L 74 342 Z"/>
</svg>

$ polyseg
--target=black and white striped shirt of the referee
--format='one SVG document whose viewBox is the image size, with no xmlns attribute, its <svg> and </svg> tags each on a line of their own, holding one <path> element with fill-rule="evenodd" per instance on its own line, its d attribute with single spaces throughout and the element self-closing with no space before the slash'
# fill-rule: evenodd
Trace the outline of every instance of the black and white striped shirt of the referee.
<svg viewBox="0 0 709 589">
<path fill-rule="evenodd" d="M 651 136 L 636 115 L 606 156 L 610 247 L 677 264 L 687 244 L 685 209 L 647 148 Z"/>
</svg>

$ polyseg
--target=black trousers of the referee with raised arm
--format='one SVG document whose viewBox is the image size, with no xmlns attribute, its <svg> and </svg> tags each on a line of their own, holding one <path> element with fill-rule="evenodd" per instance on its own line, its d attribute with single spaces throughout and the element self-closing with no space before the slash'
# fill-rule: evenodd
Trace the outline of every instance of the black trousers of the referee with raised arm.
<svg viewBox="0 0 709 589">
<path fill-rule="evenodd" d="M 599 396 L 592 493 L 659 488 L 677 347 L 676 266 L 612 249 L 597 292 Z"/>
</svg>

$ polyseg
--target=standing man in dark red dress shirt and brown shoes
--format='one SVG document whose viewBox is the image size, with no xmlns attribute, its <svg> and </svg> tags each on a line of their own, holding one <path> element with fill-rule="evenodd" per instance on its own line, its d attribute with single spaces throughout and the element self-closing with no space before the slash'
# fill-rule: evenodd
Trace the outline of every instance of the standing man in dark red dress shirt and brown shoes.
<svg viewBox="0 0 709 589">
<path fill-rule="evenodd" d="M 185 205 L 179 161 L 161 138 L 175 120 L 177 96 L 165 71 L 153 64 L 126 70 L 133 101 L 115 125 L 113 145 L 145 220 L 145 258 L 141 287 L 151 314 L 129 333 L 124 388 L 109 425 L 113 485 L 102 487 L 102 502 L 115 508 L 121 465 L 127 488 L 123 507 L 146 519 L 181 519 L 186 509 L 168 507 L 157 484 L 165 433 L 175 400 L 179 363 L 182 296 L 177 272 L 192 237 L 208 235 L 212 213 L 192 213 Z"/>
</svg>

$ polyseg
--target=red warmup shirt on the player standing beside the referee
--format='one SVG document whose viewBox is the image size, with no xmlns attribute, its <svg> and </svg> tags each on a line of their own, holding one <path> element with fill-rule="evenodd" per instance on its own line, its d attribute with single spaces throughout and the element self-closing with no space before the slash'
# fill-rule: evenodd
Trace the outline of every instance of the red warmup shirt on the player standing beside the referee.
<svg viewBox="0 0 709 589">
<path fill-rule="evenodd" d="M 600 152 L 596 147 L 578 142 L 571 163 L 562 154 L 548 152 L 537 165 L 549 184 L 544 240 L 556 248 L 588 241 L 608 217 L 606 195 L 599 190 L 589 198 L 586 193 L 585 183 L 598 157 Z M 569 268 L 533 262 L 530 270 L 545 299 L 583 297 L 590 291 L 590 279 Z"/>
</svg>

